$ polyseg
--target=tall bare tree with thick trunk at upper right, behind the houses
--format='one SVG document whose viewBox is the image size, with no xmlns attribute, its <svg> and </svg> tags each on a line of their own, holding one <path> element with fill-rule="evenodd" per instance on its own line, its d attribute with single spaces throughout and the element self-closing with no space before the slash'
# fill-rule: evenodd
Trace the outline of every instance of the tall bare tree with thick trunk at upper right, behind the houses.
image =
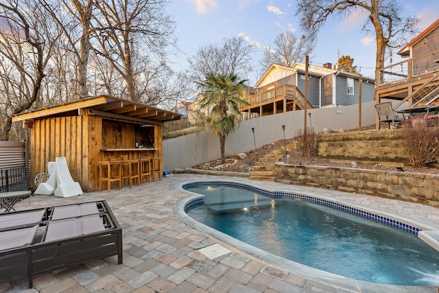
<svg viewBox="0 0 439 293">
<path fill-rule="evenodd" d="M 375 79 L 379 78 L 379 69 L 384 67 L 386 49 L 405 45 L 417 33 L 420 19 L 401 17 L 402 8 L 397 0 L 299 0 L 296 15 L 306 32 L 316 36 L 329 16 L 336 14 L 346 18 L 355 10 L 364 10 L 368 20 L 363 30 L 375 32 L 377 52 L 375 59 Z"/>
</svg>

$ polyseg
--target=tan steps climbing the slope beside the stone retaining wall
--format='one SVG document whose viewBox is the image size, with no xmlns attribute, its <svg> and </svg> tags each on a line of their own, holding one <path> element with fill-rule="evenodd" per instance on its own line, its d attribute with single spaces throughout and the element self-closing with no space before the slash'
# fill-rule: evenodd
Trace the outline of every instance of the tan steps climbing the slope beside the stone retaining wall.
<svg viewBox="0 0 439 293">
<path fill-rule="evenodd" d="M 291 152 L 296 148 L 296 143 L 290 143 L 286 145 L 286 148 L 287 152 Z M 284 146 L 279 150 L 272 150 L 270 153 L 265 154 L 252 167 L 248 178 L 250 180 L 274 181 L 274 163 L 277 163 L 283 156 L 285 156 Z"/>
</svg>

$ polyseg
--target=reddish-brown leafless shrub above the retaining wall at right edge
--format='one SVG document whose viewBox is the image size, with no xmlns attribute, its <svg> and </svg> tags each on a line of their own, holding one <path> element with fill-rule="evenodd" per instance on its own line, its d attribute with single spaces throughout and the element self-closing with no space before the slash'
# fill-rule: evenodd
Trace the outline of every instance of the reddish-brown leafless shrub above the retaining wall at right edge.
<svg viewBox="0 0 439 293">
<path fill-rule="evenodd" d="M 424 119 L 412 119 L 403 126 L 403 147 L 409 155 L 410 164 L 416 168 L 426 167 L 437 161 L 439 156 L 439 124 Z"/>
</svg>

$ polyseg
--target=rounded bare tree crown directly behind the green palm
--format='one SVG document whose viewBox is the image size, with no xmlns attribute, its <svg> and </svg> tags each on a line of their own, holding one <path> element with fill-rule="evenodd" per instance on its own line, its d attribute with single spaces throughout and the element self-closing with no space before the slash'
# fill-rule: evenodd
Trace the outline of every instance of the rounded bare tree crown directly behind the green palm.
<svg viewBox="0 0 439 293">
<path fill-rule="evenodd" d="M 200 47 L 195 56 L 188 59 L 189 75 L 193 82 L 204 82 L 206 76 L 238 75 L 247 77 L 252 71 L 251 54 L 256 50 L 244 38 L 225 38 L 221 44 Z"/>
</svg>

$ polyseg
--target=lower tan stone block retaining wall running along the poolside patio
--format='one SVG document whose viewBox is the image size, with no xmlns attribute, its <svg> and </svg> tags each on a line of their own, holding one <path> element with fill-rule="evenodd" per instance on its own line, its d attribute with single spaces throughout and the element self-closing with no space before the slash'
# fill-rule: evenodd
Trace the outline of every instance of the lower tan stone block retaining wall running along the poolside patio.
<svg viewBox="0 0 439 293">
<path fill-rule="evenodd" d="M 369 194 L 439 207 L 439 175 L 276 163 L 279 183 Z"/>
</svg>

